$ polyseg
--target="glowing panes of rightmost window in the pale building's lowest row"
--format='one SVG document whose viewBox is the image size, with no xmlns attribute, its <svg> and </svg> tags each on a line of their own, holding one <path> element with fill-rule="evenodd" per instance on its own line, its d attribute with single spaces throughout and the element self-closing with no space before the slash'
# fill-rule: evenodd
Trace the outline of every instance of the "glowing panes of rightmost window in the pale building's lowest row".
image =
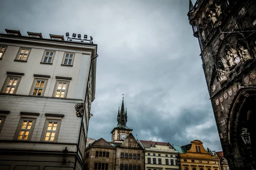
<svg viewBox="0 0 256 170">
<path fill-rule="evenodd" d="M 47 121 L 44 135 L 45 142 L 55 142 L 58 124 L 58 121 Z"/>
</svg>

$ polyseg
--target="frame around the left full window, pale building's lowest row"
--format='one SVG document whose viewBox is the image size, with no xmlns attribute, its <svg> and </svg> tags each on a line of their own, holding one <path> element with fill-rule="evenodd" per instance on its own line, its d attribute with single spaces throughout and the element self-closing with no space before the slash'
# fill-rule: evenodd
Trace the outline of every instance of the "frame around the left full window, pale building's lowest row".
<svg viewBox="0 0 256 170">
<path fill-rule="evenodd" d="M 23 125 L 24 122 L 26 122 L 25 125 Z M 31 125 L 30 125 L 30 128 L 28 129 L 29 122 L 31 122 Z M 32 133 L 33 133 L 34 127 L 35 127 L 35 119 L 33 119 L 33 118 L 21 118 L 20 122 L 19 122 L 19 125 L 17 127 L 17 130 L 16 130 L 15 140 L 18 140 L 18 141 L 29 141 L 31 139 L 31 137 L 32 137 Z M 22 134 L 22 139 L 19 139 L 21 131 L 24 131 L 25 133 Z M 26 132 L 29 132 L 29 134 L 27 135 L 27 139 L 24 139 L 25 136 L 26 136 Z"/>
</svg>

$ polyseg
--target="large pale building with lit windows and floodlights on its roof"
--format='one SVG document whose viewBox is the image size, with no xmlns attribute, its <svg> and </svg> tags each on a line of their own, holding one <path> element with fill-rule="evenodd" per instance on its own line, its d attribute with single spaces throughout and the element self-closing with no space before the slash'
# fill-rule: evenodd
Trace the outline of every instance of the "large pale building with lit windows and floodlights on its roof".
<svg viewBox="0 0 256 170">
<path fill-rule="evenodd" d="M 82 170 L 97 45 L 6 33 L 0 34 L 0 170 Z"/>
</svg>

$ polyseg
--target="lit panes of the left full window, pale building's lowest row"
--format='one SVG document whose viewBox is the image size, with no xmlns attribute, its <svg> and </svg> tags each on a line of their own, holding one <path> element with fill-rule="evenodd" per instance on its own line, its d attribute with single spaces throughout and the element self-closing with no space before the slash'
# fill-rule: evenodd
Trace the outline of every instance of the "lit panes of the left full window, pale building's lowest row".
<svg viewBox="0 0 256 170">
<path fill-rule="evenodd" d="M 19 132 L 18 132 L 17 140 L 27 141 L 29 139 L 29 135 L 31 133 L 33 124 L 34 124 L 34 120 L 23 119 L 18 129 Z"/>
</svg>

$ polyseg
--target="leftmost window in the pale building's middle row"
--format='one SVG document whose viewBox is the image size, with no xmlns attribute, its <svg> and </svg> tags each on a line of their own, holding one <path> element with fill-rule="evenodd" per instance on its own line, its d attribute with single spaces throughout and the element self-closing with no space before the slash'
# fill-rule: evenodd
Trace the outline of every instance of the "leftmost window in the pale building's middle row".
<svg viewBox="0 0 256 170">
<path fill-rule="evenodd" d="M 2 92 L 6 94 L 15 94 L 19 85 L 21 77 L 8 76 L 6 78 L 5 86 Z"/>
</svg>

